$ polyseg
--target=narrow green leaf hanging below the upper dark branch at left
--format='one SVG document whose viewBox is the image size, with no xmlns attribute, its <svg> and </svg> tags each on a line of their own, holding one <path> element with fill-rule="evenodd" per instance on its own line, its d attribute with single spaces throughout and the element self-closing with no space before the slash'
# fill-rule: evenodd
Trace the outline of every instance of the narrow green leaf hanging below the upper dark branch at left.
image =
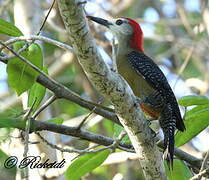
<svg viewBox="0 0 209 180">
<path fill-rule="evenodd" d="M 43 67 L 43 72 L 48 74 L 46 67 Z M 41 101 L 43 100 L 45 93 L 46 88 L 41 84 L 35 82 L 33 86 L 29 89 L 28 107 L 32 107 L 33 103 L 35 102 L 35 104 L 33 105 L 33 109 L 36 110 L 41 104 Z"/>
</svg>

